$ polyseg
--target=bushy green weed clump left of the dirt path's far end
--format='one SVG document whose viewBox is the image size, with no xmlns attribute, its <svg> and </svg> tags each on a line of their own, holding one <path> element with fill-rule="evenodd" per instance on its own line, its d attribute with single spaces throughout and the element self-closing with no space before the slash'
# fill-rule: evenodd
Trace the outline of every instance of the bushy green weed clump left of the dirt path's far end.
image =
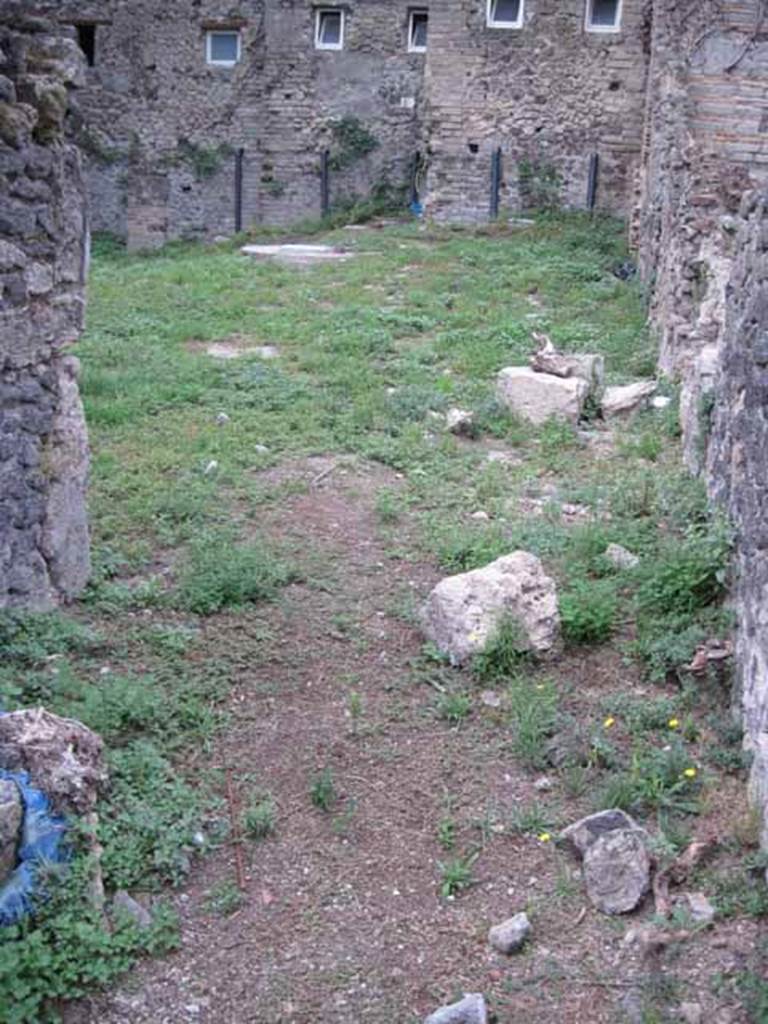
<svg viewBox="0 0 768 1024">
<path fill-rule="evenodd" d="M 186 611 L 210 615 L 274 597 L 280 587 L 297 579 L 266 542 L 237 545 L 232 538 L 211 535 L 195 541 L 176 587 L 175 603 Z"/>
</svg>

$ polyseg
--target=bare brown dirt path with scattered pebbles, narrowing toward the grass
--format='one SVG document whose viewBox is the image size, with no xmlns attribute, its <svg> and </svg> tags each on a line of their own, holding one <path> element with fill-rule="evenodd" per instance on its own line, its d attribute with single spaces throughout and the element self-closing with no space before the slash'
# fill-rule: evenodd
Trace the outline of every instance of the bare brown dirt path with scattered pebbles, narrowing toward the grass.
<svg viewBox="0 0 768 1024">
<path fill-rule="evenodd" d="M 712 982 L 743 968 L 758 925 L 726 922 L 643 958 L 623 939 L 652 916 L 650 903 L 629 921 L 601 916 L 574 863 L 505 827 L 516 806 L 541 797 L 539 776 L 516 766 L 499 709 L 475 694 L 472 714 L 452 726 L 414 671 L 423 637 L 403 609 L 418 607 L 437 575 L 393 555 L 377 521 L 376 490 L 396 488 L 396 474 L 331 459 L 280 472 L 309 486 L 265 511 L 259 527 L 305 543 L 323 562 L 279 603 L 204 627 L 212 644 L 242 651 L 242 668 L 231 725 L 199 758 L 201 772 L 228 773 L 241 805 L 249 787 L 268 790 L 275 833 L 240 847 L 243 898 L 228 914 L 215 894 L 238 884 L 237 848 L 202 859 L 172 896 L 179 951 L 73 1005 L 69 1024 L 413 1024 L 465 991 L 483 992 L 500 1024 L 523 1015 L 652 1024 L 670 1019 L 652 1016 L 659 999 L 700 1005 L 702 1022 L 745 1022 Z M 631 688 L 632 671 L 603 650 L 553 674 L 584 695 L 621 673 Z M 309 799 L 326 768 L 331 811 Z M 547 799 L 575 814 L 560 784 Z M 438 843 L 446 807 L 459 823 L 454 852 Z M 440 862 L 473 849 L 473 884 L 445 899 Z M 487 930 L 524 909 L 532 940 L 501 956 Z"/>
</svg>

